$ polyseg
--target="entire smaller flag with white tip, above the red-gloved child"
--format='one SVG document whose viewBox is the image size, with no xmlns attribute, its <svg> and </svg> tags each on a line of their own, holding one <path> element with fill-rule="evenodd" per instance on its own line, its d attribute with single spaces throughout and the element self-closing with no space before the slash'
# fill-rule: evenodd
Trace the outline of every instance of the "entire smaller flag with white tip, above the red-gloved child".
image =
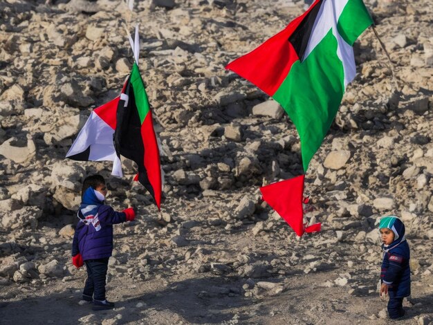
<svg viewBox="0 0 433 325">
<path fill-rule="evenodd" d="M 158 209 L 162 176 L 158 141 L 147 100 L 145 84 L 138 71 L 139 37 L 129 37 L 135 62 L 120 96 L 94 109 L 66 154 L 74 160 L 111 160 L 114 176 L 122 176 L 120 156 L 138 165 L 138 180 L 153 196 Z"/>
</svg>

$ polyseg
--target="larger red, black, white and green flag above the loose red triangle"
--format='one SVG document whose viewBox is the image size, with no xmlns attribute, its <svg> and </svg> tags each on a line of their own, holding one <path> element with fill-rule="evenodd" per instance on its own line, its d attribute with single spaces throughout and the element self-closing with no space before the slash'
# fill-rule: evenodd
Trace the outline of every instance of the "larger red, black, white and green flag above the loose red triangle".
<svg viewBox="0 0 433 325">
<path fill-rule="evenodd" d="M 282 105 L 300 135 L 304 172 L 356 75 L 353 43 L 372 23 L 362 0 L 316 0 L 284 30 L 226 66 Z"/>
</svg>

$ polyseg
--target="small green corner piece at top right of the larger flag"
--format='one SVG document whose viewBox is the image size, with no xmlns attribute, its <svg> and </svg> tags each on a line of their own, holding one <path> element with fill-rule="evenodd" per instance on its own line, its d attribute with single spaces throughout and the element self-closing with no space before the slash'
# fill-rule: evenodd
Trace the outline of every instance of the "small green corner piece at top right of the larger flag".
<svg viewBox="0 0 433 325">
<path fill-rule="evenodd" d="M 338 33 L 350 46 L 371 24 L 370 14 L 362 0 L 349 0 L 338 18 Z"/>
</svg>

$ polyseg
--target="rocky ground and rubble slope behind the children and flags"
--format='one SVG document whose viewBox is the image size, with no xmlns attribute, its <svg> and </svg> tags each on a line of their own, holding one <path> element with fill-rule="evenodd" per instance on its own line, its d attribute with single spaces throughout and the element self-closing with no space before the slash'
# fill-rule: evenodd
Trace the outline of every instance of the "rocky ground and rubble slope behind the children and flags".
<svg viewBox="0 0 433 325">
<path fill-rule="evenodd" d="M 296 0 L 6 0 L 0 3 L 1 324 L 387 324 L 378 297 L 378 218 L 401 216 L 412 296 L 399 324 L 433 322 L 433 6 L 366 0 L 358 75 L 306 175 L 310 223 L 295 236 L 259 187 L 302 171 L 281 107 L 224 66 L 304 10 Z M 158 122 L 162 214 L 133 164 L 64 158 L 91 109 L 115 97 L 140 24 L 140 71 Z M 108 299 L 80 301 L 71 241 L 88 174 L 109 204 L 139 207 L 116 226 Z"/>
</svg>

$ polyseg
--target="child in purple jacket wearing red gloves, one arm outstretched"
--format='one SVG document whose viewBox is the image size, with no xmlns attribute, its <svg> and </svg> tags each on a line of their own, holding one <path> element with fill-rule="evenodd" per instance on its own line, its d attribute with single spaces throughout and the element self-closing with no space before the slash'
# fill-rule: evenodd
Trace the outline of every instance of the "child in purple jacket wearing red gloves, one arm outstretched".
<svg viewBox="0 0 433 325">
<path fill-rule="evenodd" d="M 107 192 L 102 176 L 84 179 L 82 203 L 77 212 L 80 221 L 72 243 L 73 265 L 80 268 L 86 264 L 87 279 L 82 297 L 93 301 L 93 310 L 114 308 L 114 304 L 105 299 L 105 279 L 113 251 L 113 225 L 133 221 L 136 216 L 132 207 L 115 212 L 109 205 L 104 205 Z"/>
</svg>

